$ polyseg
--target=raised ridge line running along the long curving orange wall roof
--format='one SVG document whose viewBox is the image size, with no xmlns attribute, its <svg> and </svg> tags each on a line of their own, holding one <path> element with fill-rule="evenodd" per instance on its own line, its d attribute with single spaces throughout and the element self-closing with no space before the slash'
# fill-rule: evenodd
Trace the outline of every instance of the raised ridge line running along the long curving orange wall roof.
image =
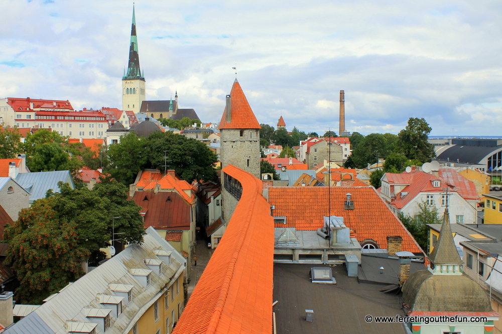
<svg viewBox="0 0 502 334">
<path fill-rule="evenodd" d="M 226 169 L 228 169 L 229 166 L 232 166 L 233 168 L 235 168 L 235 166 L 233 166 L 232 164 L 229 164 L 226 167 Z M 248 178 L 247 175 L 246 175 L 246 178 Z M 256 188 L 256 183 L 253 182 L 253 185 L 254 185 L 253 188 Z M 244 189 L 243 189 L 243 191 L 244 191 Z M 247 204 L 248 212 L 252 212 L 253 209 L 255 208 L 257 198 L 258 198 L 258 196 L 255 196 L 251 202 L 248 202 L 248 204 Z M 228 291 L 230 289 L 230 282 L 233 277 L 235 263 L 237 262 L 237 258 L 240 253 L 240 249 L 242 248 L 242 245 L 244 244 L 245 236 L 248 233 L 248 227 L 249 227 L 250 223 L 251 223 L 251 215 L 246 215 L 245 223 L 244 223 L 244 225 L 242 225 L 242 229 L 245 232 L 240 235 L 239 240 L 237 242 L 237 245 L 235 246 L 235 250 L 233 251 L 232 258 L 231 258 L 229 265 L 228 265 L 227 273 L 225 275 L 225 278 L 223 279 L 223 284 L 221 285 L 221 291 L 220 291 L 220 295 L 218 297 L 218 301 L 216 302 L 216 305 L 214 307 L 213 315 L 209 319 L 209 323 L 208 323 L 207 330 L 206 330 L 207 334 L 216 333 L 217 325 L 218 325 L 219 319 L 221 317 L 221 312 L 223 310 L 223 306 L 225 304 L 226 297 L 228 296 Z"/>
</svg>

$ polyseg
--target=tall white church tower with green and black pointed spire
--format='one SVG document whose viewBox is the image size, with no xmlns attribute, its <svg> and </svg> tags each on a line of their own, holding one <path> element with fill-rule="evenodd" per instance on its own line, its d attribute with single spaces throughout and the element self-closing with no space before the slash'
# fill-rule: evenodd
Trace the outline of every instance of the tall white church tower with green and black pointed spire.
<svg viewBox="0 0 502 334">
<path fill-rule="evenodd" d="M 133 25 L 131 28 L 131 45 L 129 47 L 129 64 L 122 77 L 122 110 L 140 112 L 141 103 L 145 101 L 145 78 L 140 70 L 138 38 L 136 36 L 136 16 L 133 6 Z"/>
</svg>

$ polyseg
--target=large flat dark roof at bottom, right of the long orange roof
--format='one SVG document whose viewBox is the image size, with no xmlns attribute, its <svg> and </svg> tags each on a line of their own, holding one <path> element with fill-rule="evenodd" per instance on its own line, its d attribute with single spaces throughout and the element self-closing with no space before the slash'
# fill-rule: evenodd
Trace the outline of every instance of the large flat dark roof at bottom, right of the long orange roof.
<svg viewBox="0 0 502 334">
<path fill-rule="evenodd" d="M 364 317 L 404 315 L 399 296 L 383 293 L 382 284 L 358 283 L 345 265 L 330 265 L 335 284 L 314 284 L 311 264 L 274 263 L 274 306 L 278 333 L 404 334 L 402 323 L 366 322 Z M 305 309 L 314 311 L 305 320 Z"/>
</svg>

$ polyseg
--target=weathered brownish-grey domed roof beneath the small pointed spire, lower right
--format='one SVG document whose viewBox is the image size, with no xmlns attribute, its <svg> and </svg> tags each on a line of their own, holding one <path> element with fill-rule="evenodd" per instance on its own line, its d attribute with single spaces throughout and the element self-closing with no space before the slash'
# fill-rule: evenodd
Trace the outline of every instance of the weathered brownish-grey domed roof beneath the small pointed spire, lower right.
<svg viewBox="0 0 502 334">
<path fill-rule="evenodd" d="M 412 311 L 491 312 L 483 288 L 465 275 L 433 275 L 419 270 L 403 285 L 403 300 Z"/>
</svg>

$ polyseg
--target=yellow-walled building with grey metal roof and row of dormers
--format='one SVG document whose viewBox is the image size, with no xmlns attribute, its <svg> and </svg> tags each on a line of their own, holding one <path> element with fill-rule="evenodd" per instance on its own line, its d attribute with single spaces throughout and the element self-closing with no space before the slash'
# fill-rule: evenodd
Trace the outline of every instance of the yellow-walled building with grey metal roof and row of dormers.
<svg viewBox="0 0 502 334">
<path fill-rule="evenodd" d="M 153 228 L 146 232 L 143 243 L 69 283 L 4 333 L 170 333 L 186 300 L 186 263 Z"/>
</svg>

